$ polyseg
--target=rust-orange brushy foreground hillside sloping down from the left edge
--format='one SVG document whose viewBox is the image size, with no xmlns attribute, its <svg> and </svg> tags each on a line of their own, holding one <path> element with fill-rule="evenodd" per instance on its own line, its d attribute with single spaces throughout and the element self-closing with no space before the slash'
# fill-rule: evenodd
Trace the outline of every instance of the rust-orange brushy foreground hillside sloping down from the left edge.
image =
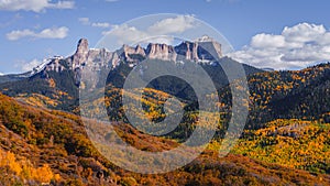
<svg viewBox="0 0 330 186">
<path fill-rule="evenodd" d="M 84 134 L 79 118 L 74 114 L 33 108 L 3 95 L 0 95 L 0 172 L 1 175 L 8 175 L 1 176 L 0 183 L 4 185 L 38 185 L 42 182 L 55 185 L 327 185 L 330 182 L 329 175 L 311 175 L 241 155 L 219 158 L 212 150 L 172 173 L 134 174 L 102 158 Z M 148 143 L 135 143 L 136 146 L 142 145 L 140 147 L 151 145 L 143 149 L 176 145 L 172 140 L 146 138 L 128 125 L 119 130 L 125 131 L 121 132 L 124 139 L 148 140 Z M 6 160 L 10 161 L 6 163 Z M 98 176 L 100 173 L 102 177 Z"/>
</svg>

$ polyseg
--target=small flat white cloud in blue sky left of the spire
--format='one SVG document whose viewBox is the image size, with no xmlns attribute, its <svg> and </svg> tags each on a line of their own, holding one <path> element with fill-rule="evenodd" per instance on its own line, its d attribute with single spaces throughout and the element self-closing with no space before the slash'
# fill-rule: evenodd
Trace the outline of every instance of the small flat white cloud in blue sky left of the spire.
<svg viewBox="0 0 330 186">
<path fill-rule="evenodd" d="M 34 37 L 34 39 L 64 39 L 68 34 L 68 29 L 62 28 L 51 28 L 44 29 L 41 32 L 34 32 L 29 29 L 11 31 L 6 36 L 10 41 L 20 40 L 22 37 Z"/>
</svg>

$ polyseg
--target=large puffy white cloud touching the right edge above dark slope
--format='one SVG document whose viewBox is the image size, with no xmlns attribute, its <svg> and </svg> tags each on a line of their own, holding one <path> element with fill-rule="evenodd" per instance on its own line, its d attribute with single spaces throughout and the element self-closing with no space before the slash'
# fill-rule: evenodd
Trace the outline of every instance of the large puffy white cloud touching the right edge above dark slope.
<svg viewBox="0 0 330 186">
<path fill-rule="evenodd" d="M 330 59 L 330 31 L 323 25 L 299 23 L 286 26 L 278 35 L 261 33 L 250 45 L 229 54 L 256 67 L 299 69 Z"/>
</svg>

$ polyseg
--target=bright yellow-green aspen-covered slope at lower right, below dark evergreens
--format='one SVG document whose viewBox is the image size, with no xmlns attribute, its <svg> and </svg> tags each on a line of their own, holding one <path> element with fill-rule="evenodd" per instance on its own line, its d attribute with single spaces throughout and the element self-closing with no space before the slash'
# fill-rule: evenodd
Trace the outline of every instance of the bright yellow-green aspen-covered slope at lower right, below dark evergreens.
<svg viewBox="0 0 330 186">
<path fill-rule="evenodd" d="M 245 131 L 233 153 L 312 173 L 330 174 L 330 124 L 274 120 L 264 129 Z"/>
</svg>

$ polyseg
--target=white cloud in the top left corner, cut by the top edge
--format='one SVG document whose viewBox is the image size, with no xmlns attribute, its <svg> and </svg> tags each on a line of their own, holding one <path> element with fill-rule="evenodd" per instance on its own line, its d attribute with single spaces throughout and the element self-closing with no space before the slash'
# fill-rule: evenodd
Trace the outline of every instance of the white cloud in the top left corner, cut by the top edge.
<svg viewBox="0 0 330 186">
<path fill-rule="evenodd" d="M 42 12 L 46 9 L 73 9 L 74 7 L 74 1 L 57 1 L 53 3 L 51 0 L 0 0 L 0 10 L 7 11 Z"/>
</svg>

